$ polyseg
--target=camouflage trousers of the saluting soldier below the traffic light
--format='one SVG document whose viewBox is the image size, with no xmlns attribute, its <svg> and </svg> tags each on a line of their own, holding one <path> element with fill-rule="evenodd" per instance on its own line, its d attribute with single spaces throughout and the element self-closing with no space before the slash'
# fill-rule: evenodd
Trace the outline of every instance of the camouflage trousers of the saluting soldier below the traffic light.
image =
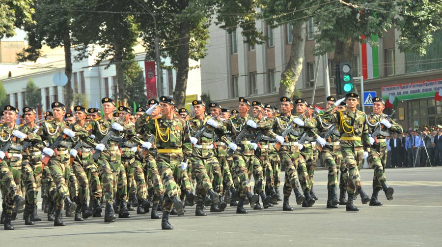
<svg viewBox="0 0 442 247">
<path fill-rule="evenodd" d="M 356 150 L 353 148 L 342 148 L 342 157 L 344 158 L 344 164 L 348 167 L 348 183 L 347 183 L 347 192 L 349 194 L 354 194 L 356 189 L 362 186 L 360 182 L 359 169 L 363 163 L 362 155 L 364 154 L 364 150 L 362 148 L 357 148 Z"/>
</svg>

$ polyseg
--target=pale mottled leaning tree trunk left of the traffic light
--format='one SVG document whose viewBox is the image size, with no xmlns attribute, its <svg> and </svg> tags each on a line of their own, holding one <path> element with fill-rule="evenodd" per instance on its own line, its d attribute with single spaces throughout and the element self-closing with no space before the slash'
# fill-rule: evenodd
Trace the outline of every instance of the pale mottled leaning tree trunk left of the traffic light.
<svg viewBox="0 0 442 247">
<path fill-rule="evenodd" d="M 307 37 L 305 22 L 294 23 L 292 35 L 293 42 L 290 49 L 290 58 L 281 74 L 278 98 L 291 96 L 295 91 L 296 83 L 301 75 L 304 62 L 305 38 Z M 276 104 L 278 106 L 280 105 L 279 100 L 277 100 Z"/>
</svg>

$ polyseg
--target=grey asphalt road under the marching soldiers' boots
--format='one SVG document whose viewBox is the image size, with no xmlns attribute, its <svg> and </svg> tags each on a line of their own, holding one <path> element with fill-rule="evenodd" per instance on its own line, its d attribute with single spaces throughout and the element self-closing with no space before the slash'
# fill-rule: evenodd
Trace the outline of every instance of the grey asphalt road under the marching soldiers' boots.
<svg viewBox="0 0 442 247">
<path fill-rule="evenodd" d="M 372 176 L 371 170 L 361 171 L 369 195 Z M 0 246 L 441 246 L 442 167 L 387 169 L 387 179 L 394 187 L 394 200 L 387 201 L 381 192 L 384 206 L 370 207 L 362 205 L 359 197 L 356 213 L 346 212 L 345 206 L 326 209 L 327 171 L 323 170 L 315 173 L 319 200 L 312 208 L 292 200 L 293 212 L 282 212 L 280 203 L 266 210 L 246 206 L 248 215 L 237 215 L 236 208 L 228 207 L 222 213 L 207 209 L 208 216 L 195 217 L 193 206 L 185 216 L 170 217 L 172 231 L 161 230 L 161 220 L 150 219 L 150 214 L 135 212 L 115 223 L 64 218 L 64 227 L 48 221 L 25 226 L 16 220 L 15 231 L 0 229 Z"/>
</svg>

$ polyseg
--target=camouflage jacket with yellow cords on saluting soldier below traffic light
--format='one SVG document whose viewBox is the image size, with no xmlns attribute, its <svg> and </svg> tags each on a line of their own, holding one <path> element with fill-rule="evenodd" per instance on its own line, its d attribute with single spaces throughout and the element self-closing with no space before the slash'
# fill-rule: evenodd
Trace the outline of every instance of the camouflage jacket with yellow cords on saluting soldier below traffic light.
<svg viewBox="0 0 442 247">
<path fill-rule="evenodd" d="M 326 109 L 323 119 L 336 124 L 339 131 L 340 146 L 342 148 L 362 148 L 370 152 L 370 136 L 368 135 L 368 124 L 365 113 L 359 111 L 345 111 L 333 113 L 336 106 L 333 104 Z"/>
</svg>

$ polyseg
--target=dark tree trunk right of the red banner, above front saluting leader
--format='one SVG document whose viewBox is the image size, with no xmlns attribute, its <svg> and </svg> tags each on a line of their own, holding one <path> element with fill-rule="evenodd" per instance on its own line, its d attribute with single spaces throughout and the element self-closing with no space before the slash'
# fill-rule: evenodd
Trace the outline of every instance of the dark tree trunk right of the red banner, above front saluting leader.
<svg viewBox="0 0 442 247">
<path fill-rule="evenodd" d="M 188 0 L 181 1 L 181 9 L 186 9 Z M 176 85 L 173 92 L 176 107 L 184 107 L 186 101 L 187 78 L 189 76 L 189 41 L 190 41 L 190 21 L 183 18 L 180 22 L 180 36 L 177 49 L 177 69 Z"/>
</svg>

